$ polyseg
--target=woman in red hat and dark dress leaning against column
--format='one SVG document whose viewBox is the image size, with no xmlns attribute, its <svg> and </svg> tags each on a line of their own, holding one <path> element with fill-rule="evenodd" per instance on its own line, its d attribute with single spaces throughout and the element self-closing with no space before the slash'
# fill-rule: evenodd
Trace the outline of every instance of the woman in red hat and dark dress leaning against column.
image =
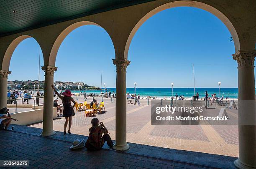
<svg viewBox="0 0 256 169">
<path fill-rule="evenodd" d="M 74 101 L 74 99 L 71 97 L 72 94 L 70 92 L 70 90 L 66 90 L 65 92 L 62 92 L 61 96 L 57 90 L 54 88 L 54 85 L 51 85 L 52 89 L 54 89 L 54 92 L 59 96 L 59 98 L 62 101 L 63 104 L 63 114 L 62 117 L 65 117 L 66 121 L 64 124 L 64 134 L 71 134 L 70 129 L 71 129 L 71 125 L 72 125 L 72 117 L 75 115 L 74 113 L 74 106 L 76 104 L 76 102 Z M 74 103 L 74 105 L 71 105 L 71 102 Z M 69 130 L 68 132 L 66 132 L 66 128 L 67 128 L 67 124 L 69 124 Z"/>
</svg>

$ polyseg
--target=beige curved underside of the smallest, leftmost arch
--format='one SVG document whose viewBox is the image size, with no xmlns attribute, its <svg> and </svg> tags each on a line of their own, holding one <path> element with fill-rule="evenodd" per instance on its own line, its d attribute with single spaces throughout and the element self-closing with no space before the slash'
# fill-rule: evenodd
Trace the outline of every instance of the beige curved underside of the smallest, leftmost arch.
<svg viewBox="0 0 256 169">
<path fill-rule="evenodd" d="M 15 38 L 10 45 L 8 46 L 7 50 L 5 51 L 5 55 L 3 57 L 3 63 L 2 63 L 2 70 L 7 70 L 9 71 L 10 68 L 10 60 L 11 57 L 13 55 L 14 50 L 16 49 L 16 47 L 20 44 L 20 42 L 22 42 L 23 40 L 27 39 L 27 38 L 31 38 L 30 35 L 21 35 L 17 38 Z M 33 37 L 32 37 L 33 38 Z M 35 39 L 35 38 L 33 38 Z"/>
</svg>

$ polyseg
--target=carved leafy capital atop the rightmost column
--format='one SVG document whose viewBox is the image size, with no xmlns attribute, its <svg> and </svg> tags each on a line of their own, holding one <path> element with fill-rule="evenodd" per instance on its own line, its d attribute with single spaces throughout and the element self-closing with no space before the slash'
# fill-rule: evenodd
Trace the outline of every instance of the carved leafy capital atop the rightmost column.
<svg viewBox="0 0 256 169">
<path fill-rule="evenodd" d="M 241 51 L 233 54 L 233 59 L 237 61 L 238 67 L 253 67 L 256 57 L 256 50 Z"/>
</svg>

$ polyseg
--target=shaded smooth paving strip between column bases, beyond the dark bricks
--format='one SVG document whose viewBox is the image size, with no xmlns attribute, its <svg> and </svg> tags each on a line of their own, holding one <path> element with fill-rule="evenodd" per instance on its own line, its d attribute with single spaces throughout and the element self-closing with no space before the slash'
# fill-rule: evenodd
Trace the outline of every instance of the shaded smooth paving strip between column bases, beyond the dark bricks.
<svg viewBox="0 0 256 169">
<path fill-rule="evenodd" d="M 27 127 L 22 125 L 11 124 L 14 126 L 14 132 L 21 132 L 26 134 L 31 134 L 33 136 L 40 136 L 42 129 L 35 127 Z M 47 137 L 49 139 L 61 140 L 64 142 L 69 142 L 72 145 L 75 139 L 87 140 L 87 136 L 78 134 L 66 134 L 63 132 L 56 132 L 53 136 Z M 115 142 L 115 141 L 114 141 Z M 130 149 L 125 152 L 119 152 L 123 154 L 136 154 L 141 157 L 151 157 L 154 159 L 164 159 L 172 162 L 179 162 L 184 164 L 193 164 L 198 167 L 210 167 L 210 168 L 236 168 L 234 161 L 236 157 L 222 156 L 217 154 L 207 154 L 201 152 L 192 152 L 185 150 L 169 149 L 163 147 L 154 147 L 143 144 L 128 143 Z M 104 144 L 103 149 L 109 149 L 107 144 Z M 115 150 L 111 150 L 115 151 Z M 116 151 L 115 151 L 116 152 Z"/>
</svg>

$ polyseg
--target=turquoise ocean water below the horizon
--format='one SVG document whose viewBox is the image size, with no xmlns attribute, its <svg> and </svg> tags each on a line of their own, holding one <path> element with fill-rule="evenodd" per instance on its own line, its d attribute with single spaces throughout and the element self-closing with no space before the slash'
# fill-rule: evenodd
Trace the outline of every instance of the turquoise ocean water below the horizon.
<svg viewBox="0 0 256 169">
<path fill-rule="evenodd" d="M 115 92 L 115 88 L 107 88 L 105 91 L 110 90 L 111 94 L 113 91 Z M 207 90 L 209 96 L 211 94 L 216 93 L 216 96 L 219 97 L 219 88 L 195 88 L 195 92 L 199 94 L 199 97 L 204 97 L 205 91 Z M 85 90 L 87 93 L 100 93 L 100 90 Z M 104 92 L 104 89 L 102 89 Z M 72 91 L 74 93 L 78 93 L 79 90 Z M 84 92 L 84 90 L 80 90 L 80 92 Z M 134 88 L 127 88 L 126 92 L 130 94 L 134 94 Z M 194 88 L 173 88 L 173 95 L 184 95 L 184 97 L 192 97 L 194 95 Z M 143 96 L 152 96 L 152 97 L 171 97 L 172 96 L 172 88 L 136 88 L 136 94 L 140 94 Z M 224 98 L 238 98 L 238 88 L 220 88 L 220 96 L 224 96 Z"/>
</svg>

